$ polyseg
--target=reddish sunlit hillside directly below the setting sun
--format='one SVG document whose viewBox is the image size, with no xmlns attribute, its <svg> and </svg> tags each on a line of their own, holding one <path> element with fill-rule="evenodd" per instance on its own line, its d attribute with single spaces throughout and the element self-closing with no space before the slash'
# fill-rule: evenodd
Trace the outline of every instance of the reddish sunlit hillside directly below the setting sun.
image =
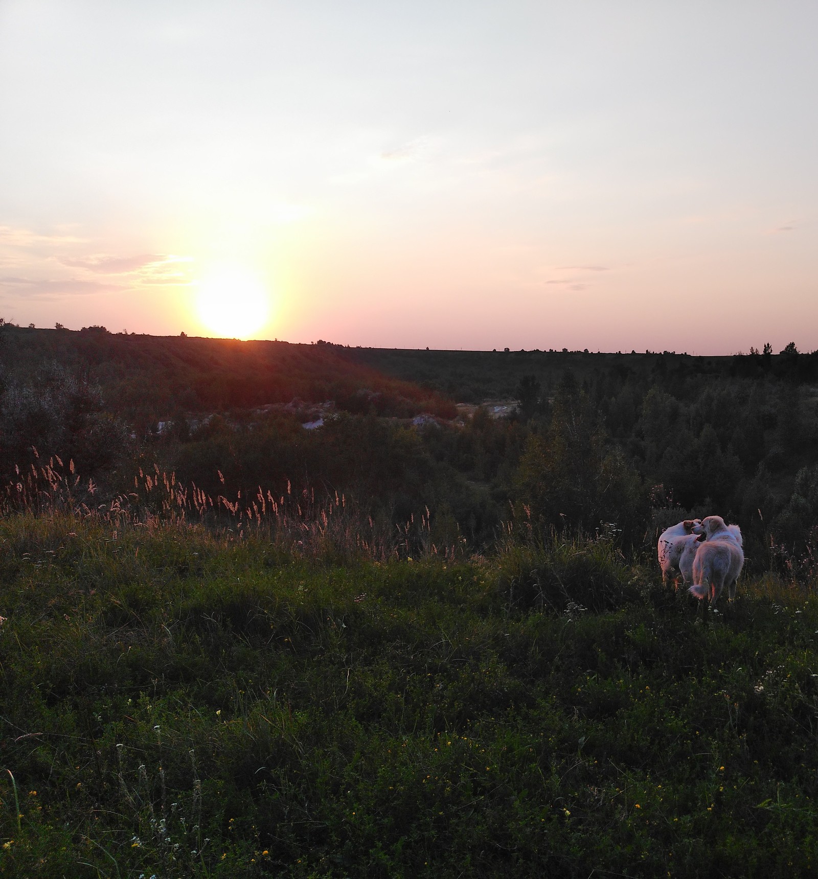
<svg viewBox="0 0 818 879">
<path fill-rule="evenodd" d="M 99 384 L 106 405 L 137 425 L 179 411 L 250 409 L 296 397 L 379 415 L 455 414 L 439 394 L 354 363 L 333 345 L 0 328 L 7 373 L 54 363 Z"/>
</svg>

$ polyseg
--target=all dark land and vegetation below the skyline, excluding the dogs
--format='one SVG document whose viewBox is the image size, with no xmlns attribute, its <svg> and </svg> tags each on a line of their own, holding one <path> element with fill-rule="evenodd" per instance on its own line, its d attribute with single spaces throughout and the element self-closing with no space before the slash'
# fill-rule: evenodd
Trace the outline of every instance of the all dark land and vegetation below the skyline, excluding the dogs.
<svg viewBox="0 0 818 879">
<path fill-rule="evenodd" d="M 278 345 L 0 329 L 0 874 L 814 874 L 812 355 L 533 352 L 453 420 Z"/>
</svg>

